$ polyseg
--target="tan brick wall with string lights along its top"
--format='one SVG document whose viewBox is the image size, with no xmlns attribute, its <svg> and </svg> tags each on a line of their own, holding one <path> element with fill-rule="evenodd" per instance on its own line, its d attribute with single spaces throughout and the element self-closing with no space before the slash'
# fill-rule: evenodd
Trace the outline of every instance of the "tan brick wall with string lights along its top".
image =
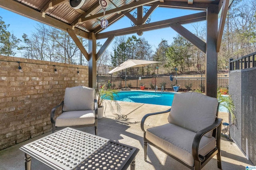
<svg viewBox="0 0 256 170">
<path fill-rule="evenodd" d="M 81 85 L 88 86 L 88 66 L 0 55 L 0 150 L 51 131 L 52 107 L 66 87 Z"/>
</svg>

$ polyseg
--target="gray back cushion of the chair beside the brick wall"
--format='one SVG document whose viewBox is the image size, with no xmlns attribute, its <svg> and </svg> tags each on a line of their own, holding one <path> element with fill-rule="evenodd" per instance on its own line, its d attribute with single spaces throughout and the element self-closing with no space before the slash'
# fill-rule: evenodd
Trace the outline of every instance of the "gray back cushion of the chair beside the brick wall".
<svg viewBox="0 0 256 170">
<path fill-rule="evenodd" d="M 94 91 L 85 86 L 66 88 L 63 111 L 94 110 Z"/>
</svg>

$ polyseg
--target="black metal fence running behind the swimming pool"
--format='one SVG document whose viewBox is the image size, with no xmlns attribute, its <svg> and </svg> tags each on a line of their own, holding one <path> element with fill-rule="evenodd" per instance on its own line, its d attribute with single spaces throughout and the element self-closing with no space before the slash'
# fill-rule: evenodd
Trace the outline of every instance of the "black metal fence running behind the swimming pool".
<svg viewBox="0 0 256 170">
<path fill-rule="evenodd" d="M 228 88 L 228 74 L 218 75 L 218 86 Z M 172 81 L 171 81 L 172 79 Z M 140 89 L 144 85 L 146 90 L 169 90 L 172 86 L 179 85 L 180 91 L 200 89 L 205 91 L 205 74 L 196 75 L 98 75 L 97 86 L 105 88 L 130 88 Z"/>
</svg>

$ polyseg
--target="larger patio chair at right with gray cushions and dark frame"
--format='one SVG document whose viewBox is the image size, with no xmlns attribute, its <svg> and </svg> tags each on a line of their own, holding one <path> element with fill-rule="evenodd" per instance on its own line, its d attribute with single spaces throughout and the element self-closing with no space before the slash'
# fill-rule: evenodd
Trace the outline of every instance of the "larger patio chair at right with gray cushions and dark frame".
<svg viewBox="0 0 256 170">
<path fill-rule="evenodd" d="M 200 170 L 217 154 L 218 168 L 221 169 L 222 119 L 218 118 L 218 108 L 216 98 L 197 92 L 186 92 L 174 95 L 170 109 L 145 115 L 141 121 L 144 132 L 144 160 L 147 159 L 149 143 L 195 170 Z M 144 129 L 147 117 L 168 112 L 167 124 Z"/>
</svg>

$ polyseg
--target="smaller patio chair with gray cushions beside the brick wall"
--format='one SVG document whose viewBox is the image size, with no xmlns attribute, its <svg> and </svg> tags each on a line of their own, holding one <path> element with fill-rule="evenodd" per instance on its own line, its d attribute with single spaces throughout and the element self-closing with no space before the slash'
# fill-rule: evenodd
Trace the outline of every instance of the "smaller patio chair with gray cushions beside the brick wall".
<svg viewBox="0 0 256 170">
<path fill-rule="evenodd" d="M 52 132 L 65 127 L 95 126 L 98 134 L 98 105 L 94 99 L 94 88 L 76 86 L 66 88 L 64 100 L 51 112 Z M 54 119 L 56 108 L 62 106 L 62 113 Z"/>
</svg>

